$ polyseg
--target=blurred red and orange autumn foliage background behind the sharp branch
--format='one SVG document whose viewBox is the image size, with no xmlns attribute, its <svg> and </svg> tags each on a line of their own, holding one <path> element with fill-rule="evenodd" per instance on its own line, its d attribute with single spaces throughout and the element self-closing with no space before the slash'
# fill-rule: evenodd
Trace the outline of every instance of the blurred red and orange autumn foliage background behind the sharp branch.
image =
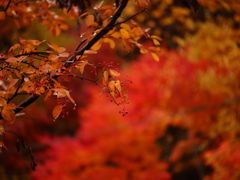
<svg viewBox="0 0 240 180">
<path fill-rule="evenodd" d="M 134 3 L 124 16 L 139 11 Z M 239 2 L 153 1 L 134 20 L 163 39 L 159 62 L 121 45 L 103 46 L 89 59 L 121 64 L 130 103 L 117 106 L 91 82 L 64 82 L 77 109 L 67 107 L 69 115 L 56 121 L 54 99 L 25 109 L 25 117 L 8 130 L 32 147 L 38 166 L 31 170 L 29 156 L 16 150 L 16 136 L 6 133 L 1 180 L 240 179 Z M 67 22 L 69 29 L 53 36 L 38 21 L 18 26 L 5 18 L 0 52 L 19 37 L 72 51 L 85 27 Z"/>
</svg>

